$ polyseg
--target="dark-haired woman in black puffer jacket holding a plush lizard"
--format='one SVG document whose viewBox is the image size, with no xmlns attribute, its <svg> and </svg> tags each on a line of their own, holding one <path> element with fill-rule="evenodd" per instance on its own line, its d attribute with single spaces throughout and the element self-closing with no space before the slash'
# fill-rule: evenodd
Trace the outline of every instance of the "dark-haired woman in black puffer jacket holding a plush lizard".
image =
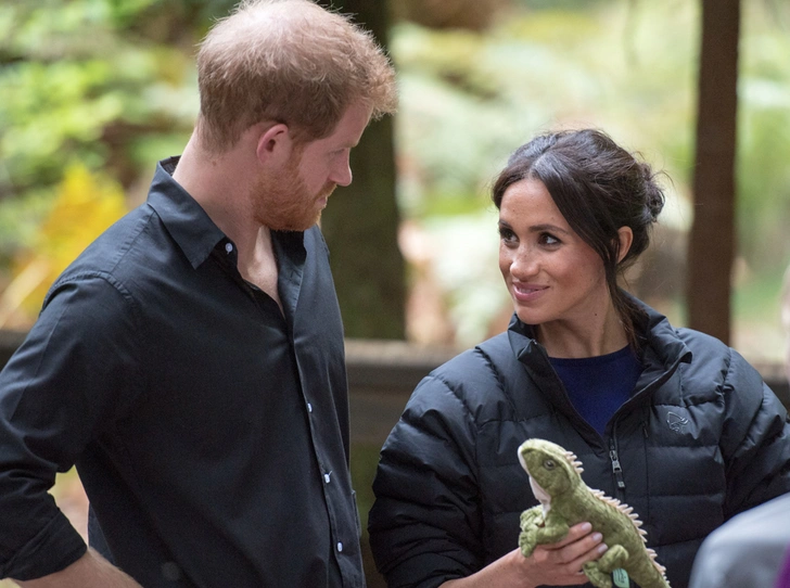
<svg viewBox="0 0 790 588">
<path fill-rule="evenodd" d="M 585 482 L 634 507 L 673 588 L 702 539 L 790 490 L 787 412 L 713 337 L 617 286 L 664 197 L 650 167 L 596 130 L 537 137 L 493 190 L 507 333 L 434 370 L 387 438 L 370 541 L 390 586 L 570 586 L 606 551 L 586 524 L 524 558 L 537 503 L 517 448 L 576 453 Z"/>
</svg>

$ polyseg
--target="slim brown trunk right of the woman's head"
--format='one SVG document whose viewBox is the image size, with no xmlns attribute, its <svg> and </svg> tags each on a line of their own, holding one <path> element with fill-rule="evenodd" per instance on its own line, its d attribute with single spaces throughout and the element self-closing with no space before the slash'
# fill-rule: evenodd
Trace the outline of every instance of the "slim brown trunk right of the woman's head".
<svg viewBox="0 0 790 588">
<path fill-rule="evenodd" d="M 688 323 L 730 336 L 740 0 L 702 0 L 695 216 L 688 251 Z"/>
</svg>

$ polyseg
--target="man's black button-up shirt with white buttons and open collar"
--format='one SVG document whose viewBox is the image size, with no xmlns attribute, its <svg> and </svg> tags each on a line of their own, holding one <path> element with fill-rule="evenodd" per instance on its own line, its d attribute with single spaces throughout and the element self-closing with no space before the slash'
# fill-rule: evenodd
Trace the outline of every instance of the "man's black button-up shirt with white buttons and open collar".
<svg viewBox="0 0 790 588">
<path fill-rule="evenodd" d="M 0 373 L 0 577 L 84 553 L 47 496 L 76 463 L 91 542 L 145 587 L 364 586 L 320 231 L 272 232 L 283 316 L 176 163 L 58 279 Z"/>
</svg>

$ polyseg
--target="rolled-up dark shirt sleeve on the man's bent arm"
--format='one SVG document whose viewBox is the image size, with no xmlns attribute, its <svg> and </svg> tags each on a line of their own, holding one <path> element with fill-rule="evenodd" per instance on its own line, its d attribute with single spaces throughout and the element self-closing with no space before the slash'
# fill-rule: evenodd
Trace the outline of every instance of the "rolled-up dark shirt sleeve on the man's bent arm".
<svg viewBox="0 0 790 588">
<path fill-rule="evenodd" d="M 130 308 L 107 279 L 61 283 L 0 372 L 0 577 L 44 576 L 86 551 L 49 490 L 140 385 Z"/>
</svg>

